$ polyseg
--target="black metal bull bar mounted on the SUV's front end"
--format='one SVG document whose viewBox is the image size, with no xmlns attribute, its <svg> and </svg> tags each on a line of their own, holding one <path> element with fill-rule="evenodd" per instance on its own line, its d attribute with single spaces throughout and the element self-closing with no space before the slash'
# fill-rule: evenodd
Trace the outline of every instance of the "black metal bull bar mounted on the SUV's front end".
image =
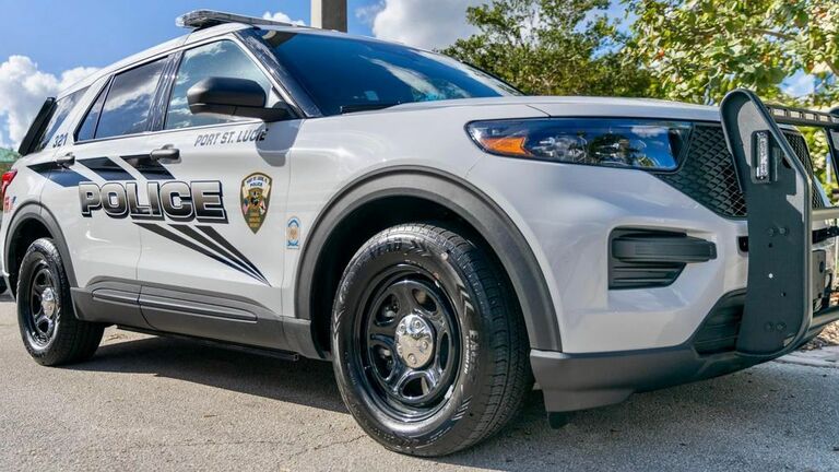
<svg viewBox="0 0 839 472">
<path fill-rule="evenodd" d="M 824 129 L 838 170 L 836 111 L 767 106 L 747 90 L 735 90 L 722 101 L 725 140 L 748 209 L 748 282 L 736 344 L 744 356 L 785 354 L 839 319 L 839 307 L 830 304 L 830 287 L 825 288 L 818 276 L 824 259 L 813 251 L 814 243 L 839 234 L 835 224 L 827 223 L 839 217 L 839 206 L 813 208 L 815 177 L 779 127 Z"/>
</svg>

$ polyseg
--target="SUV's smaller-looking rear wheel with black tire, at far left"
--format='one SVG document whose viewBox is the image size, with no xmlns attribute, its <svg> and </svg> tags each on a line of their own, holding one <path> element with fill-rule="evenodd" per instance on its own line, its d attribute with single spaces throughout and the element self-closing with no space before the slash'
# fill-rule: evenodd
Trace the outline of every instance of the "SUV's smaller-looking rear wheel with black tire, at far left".
<svg viewBox="0 0 839 472">
<path fill-rule="evenodd" d="M 86 361 L 102 341 L 103 324 L 75 318 L 61 256 L 49 238 L 35 240 L 23 256 L 17 276 L 17 324 L 23 345 L 40 365 Z"/>
</svg>

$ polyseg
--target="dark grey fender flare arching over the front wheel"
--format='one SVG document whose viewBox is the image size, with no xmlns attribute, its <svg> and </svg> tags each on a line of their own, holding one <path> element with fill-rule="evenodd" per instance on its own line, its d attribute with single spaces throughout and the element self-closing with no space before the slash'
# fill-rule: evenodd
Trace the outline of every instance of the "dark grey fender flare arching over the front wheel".
<svg viewBox="0 0 839 472">
<path fill-rule="evenodd" d="M 320 262 L 321 248 L 332 232 L 364 204 L 388 197 L 416 197 L 433 201 L 475 228 L 489 244 L 512 282 L 531 347 L 562 351 L 559 326 L 547 282 L 528 240 L 512 220 L 472 184 L 421 166 L 388 167 L 364 175 L 346 185 L 324 205 L 312 223 L 297 266 L 297 318 L 314 318 L 311 294 L 315 272 Z"/>
</svg>

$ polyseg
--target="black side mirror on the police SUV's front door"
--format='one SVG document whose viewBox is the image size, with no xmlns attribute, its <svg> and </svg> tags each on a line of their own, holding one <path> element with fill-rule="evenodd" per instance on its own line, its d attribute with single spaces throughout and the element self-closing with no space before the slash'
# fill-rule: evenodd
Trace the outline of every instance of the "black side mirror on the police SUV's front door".
<svg viewBox="0 0 839 472">
<path fill-rule="evenodd" d="M 265 91 L 247 79 L 208 78 L 187 91 L 189 110 L 193 115 L 223 115 L 279 121 L 291 116 L 284 103 L 265 108 Z"/>
</svg>

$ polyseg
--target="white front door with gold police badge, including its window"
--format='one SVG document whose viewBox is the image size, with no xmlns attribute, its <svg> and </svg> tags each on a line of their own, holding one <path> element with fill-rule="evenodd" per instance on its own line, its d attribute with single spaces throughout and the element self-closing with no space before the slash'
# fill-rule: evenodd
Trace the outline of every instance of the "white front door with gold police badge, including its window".
<svg viewBox="0 0 839 472">
<path fill-rule="evenodd" d="M 238 43 L 182 52 L 161 130 L 146 141 L 170 178 L 161 184 L 165 219 L 135 222 L 143 314 L 156 329 L 276 345 L 286 248 L 286 150 L 298 121 L 192 115 L 187 91 L 210 76 L 253 80 L 276 96 Z M 274 98 L 275 99 L 275 98 Z"/>
</svg>

